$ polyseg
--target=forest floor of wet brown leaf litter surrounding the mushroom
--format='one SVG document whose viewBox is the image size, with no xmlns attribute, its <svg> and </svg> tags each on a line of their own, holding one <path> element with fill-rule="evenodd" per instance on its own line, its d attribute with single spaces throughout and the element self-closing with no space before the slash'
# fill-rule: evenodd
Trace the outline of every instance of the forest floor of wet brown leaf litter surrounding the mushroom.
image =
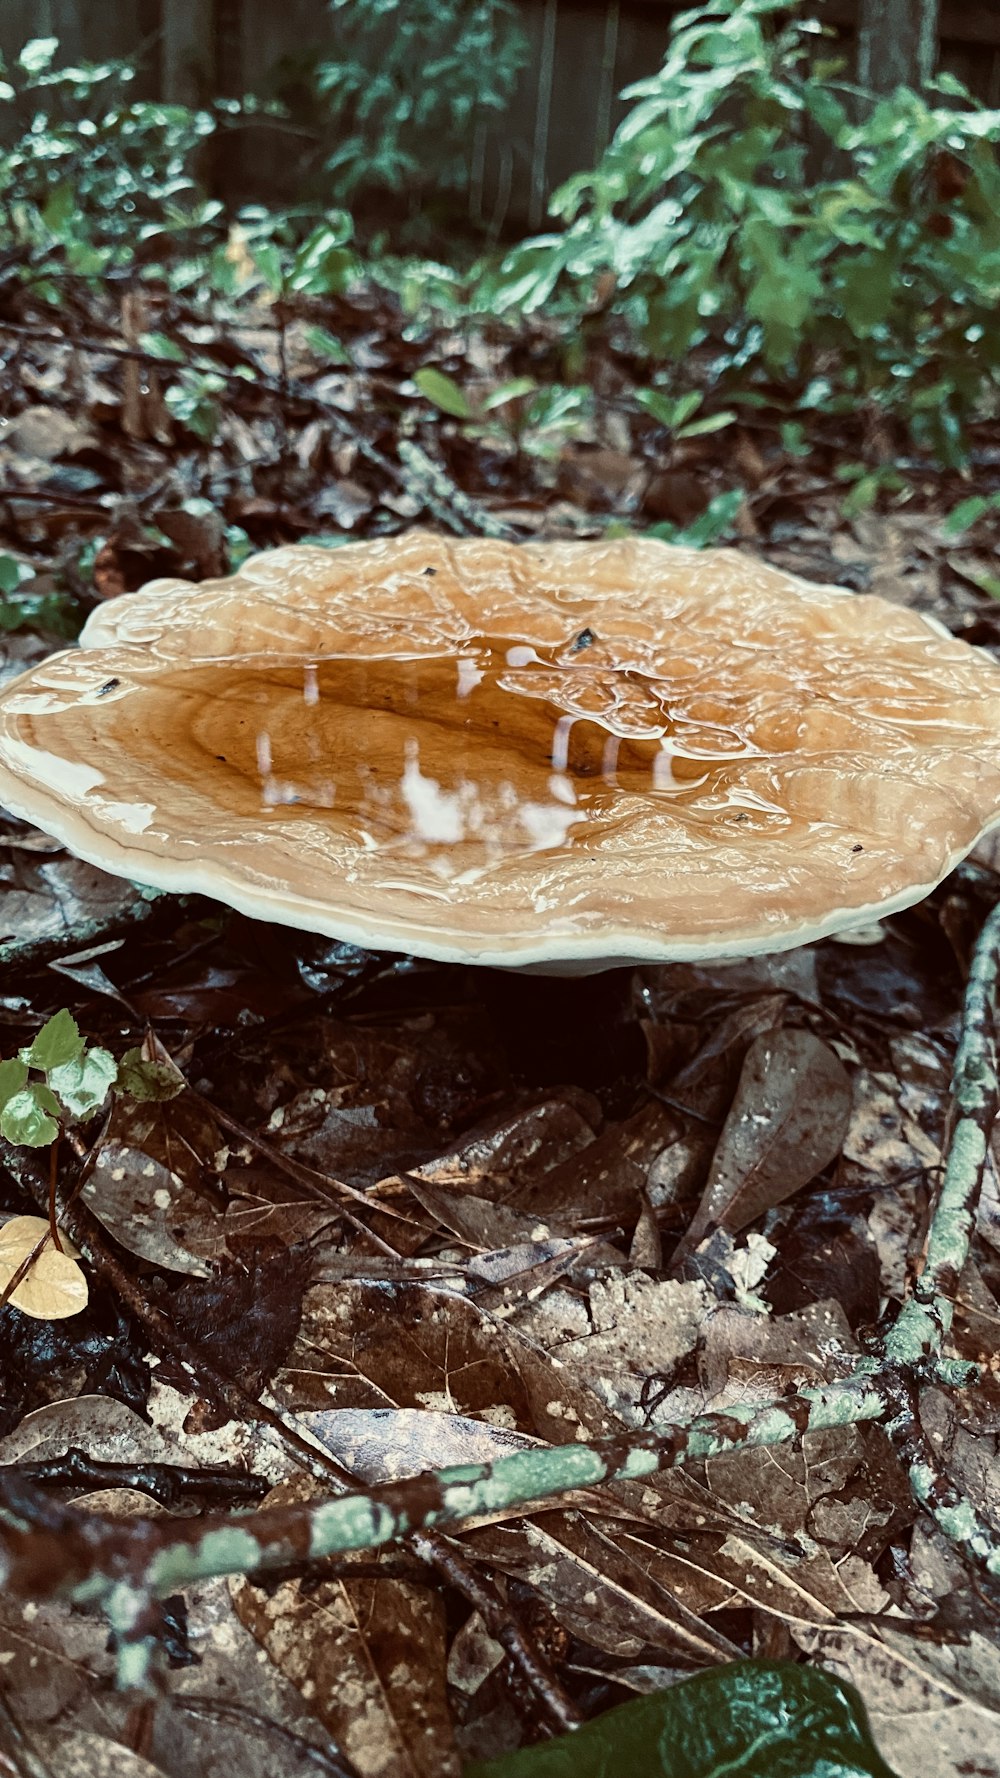
<svg viewBox="0 0 1000 1778">
<path fill-rule="evenodd" d="M 317 352 L 320 320 L 347 363 Z M 915 462 L 904 494 L 845 514 L 843 464 L 899 462 L 863 420 L 824 421 L 808 455 L 756 414 L 669 444 L 628 400 L 626 354 L 594 343 L 593 420 L 518 446 L 434 411 L 413 382 L 429 364 L 463 389 L 557 377 L 543 324 L 411 340 L 370 292 L 279 331 L 263 315 L 196 327 L 183 311 L 144 325 L 215 366 L 212 439 L 164 402 L 169 366 L 109 320 L 18 309 L 0 324 L 0 551 L 23 565 L 4 676 L 64 645 L 96 601 L 224 573 L 247 544 L 406 525 L 685 533 L 733 487 L 740 548 L 1000 647 L 989 537 L 947 525 L 1000 478 L 986 436 L 973 484 Z M 14 820 L 0 878 L 0 1051 L 68 1006 L 116 1056 L 153 1033 L 187 1079 L 162 1106 L 119 1099 L 62 1143 L 60 1193 L 85 1214 L 85 1310 L 0 1309 L 0 1463 L 44 1463 L 25 1474 L 53 1499 L 114 1515 L 294 1497 L 302 1472 L 281 1426 L 386 1479 L 842 1376 L 920 1264 L 963 983 L 1000 898 L 984 855 L 859 942 L 559 985 L 367 955 L 198 900 L 164 896 L 137 919 L 132 885 Z M 792 1065 L 801 1033 L 824 1047 L 822 1088 Z M 762 1038 L 788 1056 L 772 1202 L 749 1234 L 674 1262 L 721 1143 L 742 1177 L 760 1170 L 747 1131 L 762 1085 L 744 1061 Z M 797 1159 L 802 1120 L 838 1127 L 819 1177 Z M 46 1163 L 4 1159 L 0 1214 L 37 1214 Z M 920 1414 L 995 1531 L 998 1328 L 989 1166 L 952 1330 L 988 1376 L 963 1394 L 929 1387 Z M 221 1406 L 219 1376 L 244 1414 Z M 87 1462 L 62 1462 L 69 1449 Z M 98 1614 L 5 1597 L 0 1687 L 59 1778 L 447 1778 L 754 1654 L 852 1680 L 899 1773 L 1000 1774 L 996 1595 L 916 1510 L 877 1424 L 509 1511 L 441 1543 L 438 1565 L 404 1545 L 185 1590 L 165 1614 L 162 1694 L 141 1705 L 112 1689 Z M 20 1758 L 0 1716 L 0 1764 L 30 1771 Z"/>
</svg>

